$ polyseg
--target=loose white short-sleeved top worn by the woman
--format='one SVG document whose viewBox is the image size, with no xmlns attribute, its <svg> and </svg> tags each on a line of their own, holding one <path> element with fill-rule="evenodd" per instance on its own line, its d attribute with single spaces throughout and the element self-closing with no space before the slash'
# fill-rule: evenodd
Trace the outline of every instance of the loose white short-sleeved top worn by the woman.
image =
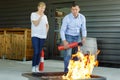
<svg viewBox="0 0 120 80">
<path fill-rule="evenodd" d="M 32 21 L 38 20 L 40 18 L 40 15 L 36 12 L 31 13 L 31 36 L 32 37 L 38 37 L 38 38 L 47 38 L 47 29 L 46 24 L 48 24 L 47 16 L 43 15 L 40 23 L 35 26 Z"/>
</svg>

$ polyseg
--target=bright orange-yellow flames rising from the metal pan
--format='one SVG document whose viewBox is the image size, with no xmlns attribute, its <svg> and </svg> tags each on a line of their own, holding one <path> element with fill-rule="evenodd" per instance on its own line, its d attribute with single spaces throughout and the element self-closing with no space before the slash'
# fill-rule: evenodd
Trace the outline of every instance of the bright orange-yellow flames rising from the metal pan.
<svg viewBox="0 0 120 80">
<path fill-rule="evenodd" d="M 99 52 L 100 50 L 96 54 Z M 69 62 L 67 75 L 63 75 L 62 78 L 66 80 L 91 78 L 94 66 L 98 66 L 95 55 L 91 53 L 84 55 L 78 47 L 78 52 L 72 55 Z"/>
</svg>

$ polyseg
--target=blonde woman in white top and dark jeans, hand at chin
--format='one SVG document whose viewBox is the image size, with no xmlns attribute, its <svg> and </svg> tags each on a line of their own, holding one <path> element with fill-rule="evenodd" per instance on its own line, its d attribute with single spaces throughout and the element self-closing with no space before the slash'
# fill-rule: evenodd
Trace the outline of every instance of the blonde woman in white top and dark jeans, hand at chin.
<svg viewBox="0 0 120 80">
<path fill-rule="evenodd" d="M 44 14 L 46 4 L 44 2 L 38 3 L 38 10 L 31 13 L 31 37 L 32 45 L 34 49 L 32 59 L 32 72 L 39 71 L 40 53 L 44 45 L 47 33 L 49 30 L 49 24 L 47 16 Z"/>
</svg>

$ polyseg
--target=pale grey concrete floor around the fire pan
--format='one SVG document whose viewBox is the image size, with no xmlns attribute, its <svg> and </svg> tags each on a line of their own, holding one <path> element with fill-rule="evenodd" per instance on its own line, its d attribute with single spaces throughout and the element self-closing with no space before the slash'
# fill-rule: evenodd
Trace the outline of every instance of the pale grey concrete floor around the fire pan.
<svg viewBox="0 0 120 80">
<path fill-rule="evenodd" d="M 63 61 L 45 60 L 45 71 L 63 71 Z M 22 73 L 31 72 L 31 61 L 0 59 L 0 80 L 28 80 Z M 120 80 L 120 68 L 95 67 L 93 74 L 107 80 Z"/>
</svg>

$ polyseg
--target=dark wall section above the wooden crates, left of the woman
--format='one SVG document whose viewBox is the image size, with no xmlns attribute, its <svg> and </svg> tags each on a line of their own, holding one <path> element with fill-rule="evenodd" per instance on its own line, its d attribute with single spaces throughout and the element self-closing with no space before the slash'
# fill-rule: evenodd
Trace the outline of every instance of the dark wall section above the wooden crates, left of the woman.
<svg viewBox="0 0 120 80">
<path fill-rule="evenodd" d="M 0 27 L 30 27 L 30 14 L 37 9 L 37 0 L 1 0 Z"/>
</svg>

